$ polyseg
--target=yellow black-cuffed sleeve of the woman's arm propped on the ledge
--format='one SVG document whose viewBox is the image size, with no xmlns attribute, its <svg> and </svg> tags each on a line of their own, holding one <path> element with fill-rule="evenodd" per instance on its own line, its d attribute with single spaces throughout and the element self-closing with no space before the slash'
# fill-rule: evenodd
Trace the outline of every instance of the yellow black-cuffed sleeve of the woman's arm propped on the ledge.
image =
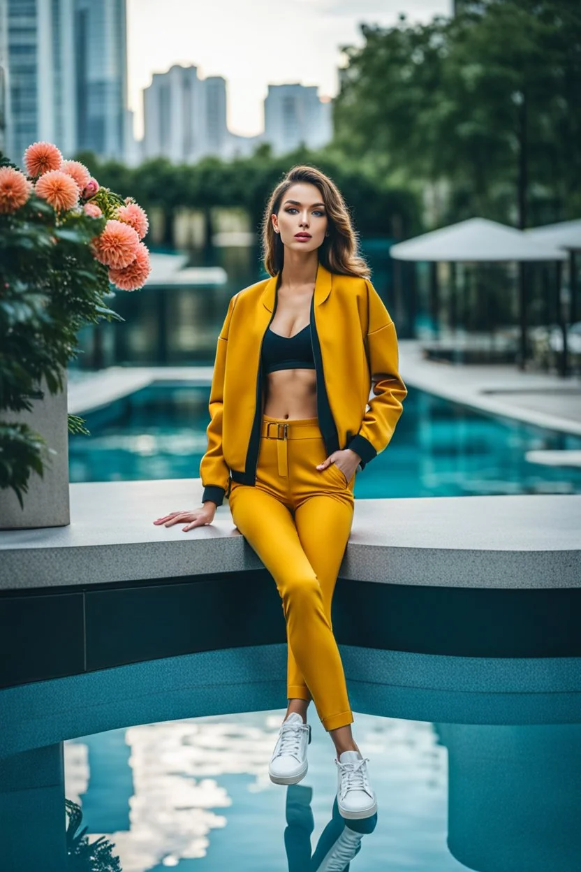
<svg viewBox="0 0 581 872">
<path fill-rule="evenodd" d="M 208 447 L 199 463 L 199 476 L 204 487 L 202 502 L 213 501 L 216 506 L 222 505 L 228 482 L 230 480 L 230 470 L 226 465 L 222 453 L 222 412 L 228 330 L 230 328 L 230 321 L 232 319 L 232 313 L 234 306 L 236 305 L 237 297 L 238 294 L 234 294 L 230 300 L 226 312 L 226 318 L 224 319 L 224 324 L 222 324 L 220 336 L 218 337 L 212 387 L 210 389 L 210 400 L 208 403 L 210 411 L 210 423 L 206 427 Z"/>
</svg>

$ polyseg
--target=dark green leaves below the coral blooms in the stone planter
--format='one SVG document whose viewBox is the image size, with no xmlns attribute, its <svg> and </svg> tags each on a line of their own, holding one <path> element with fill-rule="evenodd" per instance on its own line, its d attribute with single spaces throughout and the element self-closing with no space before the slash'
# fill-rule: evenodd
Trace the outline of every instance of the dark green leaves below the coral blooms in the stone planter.
<svg viewBox="0 0 581 872">
<path fill-rule="evenodd" d="M 0 166 L 14 166 L 0 155 Z M 109 211 L 120 198 L 101 194 Z M 109 194 L 109 201 L 106 199 Z M 105 209 L 104 209 L 105 211 Z M 108 213 L 107 213 L 108 214 Z M 0 215 L 0 413 L 32 409 L 63 390 L 66 366 L 77 354 L 78 330 L 104 318 L 122 320 L 107 306 L 108 270 L 91 254 L 91 240 L 106 215 L 91 218 L 82 208 L 59 216 L 44 200 L 30 200 Z M 86 432 L 70 419 L 71 432 Z M 30 473 L 42 475 L 48 449 L 30 427 L 0 421 L 0 488 L 10 487 L 23 504 Z"/>
</svg>

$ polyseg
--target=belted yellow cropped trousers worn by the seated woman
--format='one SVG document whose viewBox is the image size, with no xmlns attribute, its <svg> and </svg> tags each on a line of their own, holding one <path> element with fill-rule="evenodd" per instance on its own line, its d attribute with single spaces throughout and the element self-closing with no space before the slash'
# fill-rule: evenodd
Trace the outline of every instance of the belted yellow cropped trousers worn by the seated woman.
<svg viewBox="0 0 581 872">
<path fill-rule="evenodd" d="M 276 582 L 287 622 L 287 697 L 313 699 L 326 730 L 353 721 L 331 601 L 353 522 L 355 473 L 327 457 L 316 418 L 263 415 L 254 486 L 233 481 L 233 521 Z"/>
</svg>

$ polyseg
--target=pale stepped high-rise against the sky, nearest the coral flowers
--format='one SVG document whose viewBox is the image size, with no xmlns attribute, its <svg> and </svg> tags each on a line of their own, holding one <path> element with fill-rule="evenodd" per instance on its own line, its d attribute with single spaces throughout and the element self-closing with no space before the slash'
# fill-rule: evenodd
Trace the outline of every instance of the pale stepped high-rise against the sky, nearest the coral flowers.
<svg viewBox="0 0 581 872">
<path fill-rule="evenodd" d="M 226 156 L 226 81 L 198 77 L 194 65 L 155 72 L 144 92 L 143 157 L 193 163 L 207 154 Z"/>
</svg>

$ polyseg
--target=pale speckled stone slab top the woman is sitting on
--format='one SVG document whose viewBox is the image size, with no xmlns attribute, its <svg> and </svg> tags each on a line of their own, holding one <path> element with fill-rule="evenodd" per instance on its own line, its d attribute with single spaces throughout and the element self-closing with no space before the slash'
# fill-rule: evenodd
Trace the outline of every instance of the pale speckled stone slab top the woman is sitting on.
<svg viewBox="0 0 581 872">
<path fill-rule="evenodd" d="M 0 589 L 261 569 L 225 501 L 211 525 L 153 519 L 200 505 L 199 479 L 71 485 L 71 525 L 0 531 Z M 340 576 L 477 588 L 581 587 L 581 495 L 357 500 Z"/>
</svg>

